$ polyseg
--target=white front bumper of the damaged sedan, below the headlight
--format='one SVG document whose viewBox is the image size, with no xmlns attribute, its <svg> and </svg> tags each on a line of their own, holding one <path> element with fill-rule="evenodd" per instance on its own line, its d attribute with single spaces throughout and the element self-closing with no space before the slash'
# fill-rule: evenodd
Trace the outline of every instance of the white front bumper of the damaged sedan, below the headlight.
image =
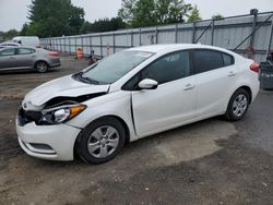
<svg viewBox="0 0 273 205">
<path fill-rule="evenodd" d="M 17 138 L 25 153 L 33 157 L 49 160 L 73 160 L 74 143 L 80 129 L 67 125 L 36 125 L 35 122 L 24 126 L 16 122 Z"/>
</svg>

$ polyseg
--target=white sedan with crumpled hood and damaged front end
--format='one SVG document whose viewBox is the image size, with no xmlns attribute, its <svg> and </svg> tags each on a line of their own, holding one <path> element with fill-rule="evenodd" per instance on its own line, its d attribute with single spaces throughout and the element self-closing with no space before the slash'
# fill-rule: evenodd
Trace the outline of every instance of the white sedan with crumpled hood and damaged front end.
<svg viewBox="0 0 273 205">
<path fill-rule="evenodd" d="M 31 156 L 112 159 L 126 142 L 214 116 L 240 120 L 259 92 L 259 65 L 202 45 L 131 48 L 28 93 L 16 132 Z"/>
</svg>

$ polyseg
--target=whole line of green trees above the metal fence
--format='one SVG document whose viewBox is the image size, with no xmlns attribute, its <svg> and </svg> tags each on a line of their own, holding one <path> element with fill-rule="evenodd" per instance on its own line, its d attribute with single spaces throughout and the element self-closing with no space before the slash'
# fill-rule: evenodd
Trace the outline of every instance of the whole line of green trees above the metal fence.
<svg viewBox="0 0 273 205">
<path fill-rule="evenodd" d="M 71 0 L 32 0 L 27 16 L 29 23 L 25 23 L 20 32 L 0 32 L 0 36 L 54 37 L 202 20 L 198 7 L 185 0 L 122 0 L 116 17 L 91 23 L 84 15 L 84 9 L 73 5 Z M 212 17 L 223 16 L 215 14 Z"/>
</svg>

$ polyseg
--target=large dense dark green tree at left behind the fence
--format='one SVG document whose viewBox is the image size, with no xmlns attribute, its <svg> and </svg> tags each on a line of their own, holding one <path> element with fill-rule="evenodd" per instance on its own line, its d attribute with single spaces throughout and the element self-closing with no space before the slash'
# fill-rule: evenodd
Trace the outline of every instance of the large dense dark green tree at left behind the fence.
<svg viewBox="0 0 273 205">
<path fill-rule="evenodd" d="M 26 35 L 39 37 L 74 35 L 84 23 L 84 10 L 71 0 L 32 0 Z"/>
</svg>

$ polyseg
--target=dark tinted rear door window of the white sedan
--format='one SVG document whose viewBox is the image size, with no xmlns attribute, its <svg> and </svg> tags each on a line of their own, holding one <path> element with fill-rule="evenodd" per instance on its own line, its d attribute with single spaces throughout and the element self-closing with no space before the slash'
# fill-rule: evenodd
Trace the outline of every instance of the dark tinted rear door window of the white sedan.
<svg viewBox="0 0 273 205">
<path fill-rule="evenodd" d="M 193 62 L 195 73 L 203 73 L 224 67 L 222 52 L 214 50 L 194 50 Z"/>
</svg>

